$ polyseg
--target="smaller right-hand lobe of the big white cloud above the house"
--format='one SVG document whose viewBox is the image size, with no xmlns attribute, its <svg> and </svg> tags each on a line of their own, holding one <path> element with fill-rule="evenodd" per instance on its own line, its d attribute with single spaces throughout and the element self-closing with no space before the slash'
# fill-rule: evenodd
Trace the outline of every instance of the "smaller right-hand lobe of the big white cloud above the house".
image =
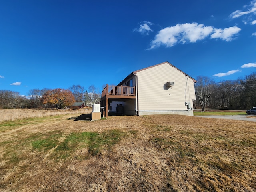
<svg viewBox="0 0 256 192">
<path fill-rule="evenodd" d="M 211 38 L 220 38 L 225 41 L 231 41 L 235 34 L 240 32 L 241 28 L 239 27 L 229 27 L 225 29 L 214 29 L 214 33 L 211 35 Z"/>
</svg>

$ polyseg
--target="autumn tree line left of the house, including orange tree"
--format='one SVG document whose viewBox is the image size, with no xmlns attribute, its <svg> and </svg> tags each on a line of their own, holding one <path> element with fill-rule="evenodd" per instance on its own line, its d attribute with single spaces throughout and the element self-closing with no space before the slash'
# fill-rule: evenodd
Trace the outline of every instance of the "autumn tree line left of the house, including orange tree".
<svg viewBox="0 0 256 192">
<path fill-rule="evenodd" d="M 83 86 L 72 85 L 68 89 L 32 89 L 28 96 L 20 96 L 19 92 L 0 90 L 0 108 L 63 108 L 72 106 L 74 102 L 96 104 L 101 94 L 94 85 L 85 90 Z"/>
</svg>

